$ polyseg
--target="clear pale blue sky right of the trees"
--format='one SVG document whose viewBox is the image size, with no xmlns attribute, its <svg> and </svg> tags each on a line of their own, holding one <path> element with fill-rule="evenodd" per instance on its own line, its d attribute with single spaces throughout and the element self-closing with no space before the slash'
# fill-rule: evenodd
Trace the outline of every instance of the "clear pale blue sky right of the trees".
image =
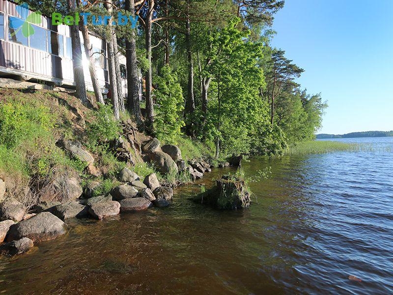
<svg viewBox="0 0 393 295">
<path fill-rule="evenodd" d="M 393 0 L 285 0 L 274 47 L 329 107 L 317 133 L 393 130 Z"/>
</svg>

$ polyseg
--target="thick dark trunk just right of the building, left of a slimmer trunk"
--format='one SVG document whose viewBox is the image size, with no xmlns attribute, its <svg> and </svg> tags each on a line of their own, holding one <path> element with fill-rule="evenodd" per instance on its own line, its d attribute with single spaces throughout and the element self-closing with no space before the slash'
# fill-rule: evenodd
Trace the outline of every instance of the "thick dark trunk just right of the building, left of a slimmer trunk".
<svg viewBox="0 0 393 295">
<path fill-rule="evenodd" d="M 126 0 L 126 10 L 135 17 L 135 0 Z M 127 63 L 127 106 L 131 114 L 142 122 L 139 104 L 140 80 L 138 76 L 137 51 L 135 44 L 135 29 L 132 29 L 130 39 L 126 39 L 126 63 Z"/>
</svg>

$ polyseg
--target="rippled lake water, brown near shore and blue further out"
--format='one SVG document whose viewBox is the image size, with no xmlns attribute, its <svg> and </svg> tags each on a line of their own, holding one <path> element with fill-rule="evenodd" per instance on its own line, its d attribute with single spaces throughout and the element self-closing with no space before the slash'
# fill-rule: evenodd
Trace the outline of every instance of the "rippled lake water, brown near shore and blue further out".
<svg viewBox="0 0 393 295">
<path fill-rule="evenodd" d="M 393 138 L 373 151 L 254 159 L 258 203 L 217 211 L 178 188 L 165 209 L 68 220 L 66 236 L 0 258 L 0 294 L 392 294 Z M 362 280 L 349 280 L 354 275 Z"/>
</svg>

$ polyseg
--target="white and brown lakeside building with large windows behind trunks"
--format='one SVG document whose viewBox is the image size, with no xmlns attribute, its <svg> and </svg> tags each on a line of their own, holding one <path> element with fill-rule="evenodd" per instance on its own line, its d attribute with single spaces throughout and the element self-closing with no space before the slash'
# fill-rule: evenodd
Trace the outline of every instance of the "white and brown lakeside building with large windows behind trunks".
<svg viewBox="0 0 393 295">
<path fill-rule="evenodd" d="M 70 28 L 66 25 L 53 26 L 51 18 L 40 16 L 41 22 L 38 20 L 36 24 L 30 24 L 34 33 L 25 37 L 22 29 L 15 28 L 19 24 L 22 26 L 27 17 L 18 13 L 21 10 L 17 6 L 13 1 L 0 0 L 0 77 L 44 81 L 46 84 L 65 88 L 75 87 Z M 31 13 L 28 10 L 28 15 Z M 81 32 L 80 36 L 83 42 Z M 94 35 L 90 35 L 90 42 L 97 78 L 102 93 L 106 94 L 109 89 L 107 44 Z M 93 91 L 89 62 L 85 57 L 84 46 L 81 45 L 86 89 Z M 123 96 L 126 97 L 126 59 L 121 56 L 119 61 Z"/>
</svg>

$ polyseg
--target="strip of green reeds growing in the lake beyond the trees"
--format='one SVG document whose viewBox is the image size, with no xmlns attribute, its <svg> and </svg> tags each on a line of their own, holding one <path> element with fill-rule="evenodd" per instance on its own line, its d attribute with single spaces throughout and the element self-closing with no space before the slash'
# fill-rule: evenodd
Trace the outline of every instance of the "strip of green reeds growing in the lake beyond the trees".
<svg viewBox="0 0 393 295">
<path fill-rule="evenodd" d="M 335 141 L 307 141 L 298 142 L 288 148 L 286 155 L 305 155 L 330 153 L 335 151 L 358 151 L 360 145 Z"/>
</svg>

